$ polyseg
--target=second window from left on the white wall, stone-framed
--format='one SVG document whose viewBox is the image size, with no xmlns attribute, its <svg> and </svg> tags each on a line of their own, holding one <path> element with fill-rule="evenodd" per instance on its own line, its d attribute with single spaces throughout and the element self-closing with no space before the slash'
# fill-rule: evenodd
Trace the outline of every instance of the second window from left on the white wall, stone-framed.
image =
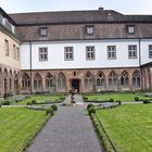
<svg viewBox="0 0 152 152">
<path fill-rule="evenodd" d="M 64 55 L 66 61 L 74 60 L 74 48 L 73 47 L 65 47 L 64 48 Z"/>
</svg>

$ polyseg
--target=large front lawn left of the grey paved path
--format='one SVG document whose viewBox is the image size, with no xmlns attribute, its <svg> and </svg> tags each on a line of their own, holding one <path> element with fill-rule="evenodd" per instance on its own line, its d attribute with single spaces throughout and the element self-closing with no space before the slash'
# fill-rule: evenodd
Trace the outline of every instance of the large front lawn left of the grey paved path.
<svg viewBox="0 0 152 152">
<path fill-rule="evenodd" d="M 49 116 L 24 107 L 0 109 L 0 152 L 22 152 Z"/>
</svg>

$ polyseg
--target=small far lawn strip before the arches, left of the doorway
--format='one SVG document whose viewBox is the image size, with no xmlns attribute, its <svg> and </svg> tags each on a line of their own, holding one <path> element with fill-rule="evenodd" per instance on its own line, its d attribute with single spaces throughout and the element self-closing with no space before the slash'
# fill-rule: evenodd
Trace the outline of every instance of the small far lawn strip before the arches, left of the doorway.
<svg viewBox="0 0 152 152">
<path fill-rule="evenodd" d="M 27 104 L 27 102 L 31 102 L 31 100 L 36 100 L 39 104 L 43 104 L 43 103 L 56 103 L 56 102 L 62 102 L 61 98 L 63 98 L 64 96 L 62 94 L 53 94 L 53 96 L 34 96 L 31 98 L 25 99 L 21 102 L 17 102 L 16 104 Z"/>
</svg>

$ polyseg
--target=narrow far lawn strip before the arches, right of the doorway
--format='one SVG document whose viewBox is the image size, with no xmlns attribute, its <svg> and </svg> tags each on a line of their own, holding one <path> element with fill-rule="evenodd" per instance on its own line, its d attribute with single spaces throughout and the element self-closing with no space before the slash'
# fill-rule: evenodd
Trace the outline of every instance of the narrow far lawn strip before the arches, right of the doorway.
<svg viewBox="0 0 152 152">
<path fill-rule="evenodd" d="M 139 93 L 103 93 L 103 94 L 88 94 L 85 96 L 88 98 L 88 101 L 104 101 L 113 98 L 115 101 L 135 101 L 135 97 L 139 97 L 140 99 L 152 99 L 150 97 L 144 97 Z"/>
</svg>

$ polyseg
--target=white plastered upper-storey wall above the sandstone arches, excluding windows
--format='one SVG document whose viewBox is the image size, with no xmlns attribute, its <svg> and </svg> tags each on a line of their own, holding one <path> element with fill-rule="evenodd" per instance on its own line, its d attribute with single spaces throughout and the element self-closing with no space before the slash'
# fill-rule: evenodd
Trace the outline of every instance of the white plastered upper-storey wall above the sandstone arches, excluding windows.
<svg viewBox="0 0 152 152">
<path fill-rule="evenodd" d="M 148 43 L 141 42 L 142 63 L 150 62 L 148 59 Z M 137 45 L 137 59 L 128 59 L 128 45 Z M 30 68 L 29 43 L 21 45 L 21 69 Z M 86 47 L 94 46 L 96 60 L 86 60 Z M 116 60 L 107 60 L 107 46 L 116 46 Z M 48 61 L 39 61 L 38 48 L 48 47 Z M 64 60 L 64 47 L 74 47 L 74 61 Z M 61 68 L 107 68 L 107 67 L 135 67 L 139 66 L 139 40 L 98 40 L 98 41 L 59 41 L 59 42 L 33 42 L 33 69 L 61 69 Z"/>
</svg>

